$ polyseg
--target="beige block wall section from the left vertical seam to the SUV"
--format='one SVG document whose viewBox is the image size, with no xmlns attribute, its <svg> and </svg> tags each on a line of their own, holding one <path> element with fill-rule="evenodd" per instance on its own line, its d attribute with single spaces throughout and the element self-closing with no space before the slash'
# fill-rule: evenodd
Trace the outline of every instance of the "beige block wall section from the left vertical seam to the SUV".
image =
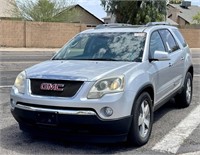
<svg viewBox="0 0 200 155">
<path fill-rule="evenodd" d="M 26 23 L 26 47 L 61 47 L 86 26 L 68 23 Z"/>
</svg>

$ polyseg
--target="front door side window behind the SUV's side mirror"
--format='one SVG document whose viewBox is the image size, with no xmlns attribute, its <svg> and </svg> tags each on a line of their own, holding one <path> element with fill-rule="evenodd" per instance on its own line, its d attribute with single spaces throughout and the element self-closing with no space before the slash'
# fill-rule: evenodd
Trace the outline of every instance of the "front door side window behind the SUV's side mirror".
<svg viewBox="0 0 200 155">
<path fill-rule="evenodd" d="M 155 51 L 165 51 L 162 39 L 157 31 L 151 34 L 150 45 L 149 45 L 150 58 L 154 57 Z"/>
</svg>

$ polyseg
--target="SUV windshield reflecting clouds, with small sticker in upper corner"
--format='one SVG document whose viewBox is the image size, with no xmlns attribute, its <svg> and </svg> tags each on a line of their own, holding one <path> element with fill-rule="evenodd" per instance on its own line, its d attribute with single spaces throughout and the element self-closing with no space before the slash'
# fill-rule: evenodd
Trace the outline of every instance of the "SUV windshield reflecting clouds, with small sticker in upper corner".
<svg viewBox="0 0 200 155">
<path fill-rule="evenodd" d="M 77 35 L 53 60 L 141 62 L 146 33 L 114 32 Z"/>
</svg>

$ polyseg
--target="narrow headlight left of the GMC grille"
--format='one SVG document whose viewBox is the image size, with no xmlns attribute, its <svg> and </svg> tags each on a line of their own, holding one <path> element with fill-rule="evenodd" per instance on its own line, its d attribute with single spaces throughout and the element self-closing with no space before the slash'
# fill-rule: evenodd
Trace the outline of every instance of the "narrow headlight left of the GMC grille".
<svg viewBox="0 0 200 155">
<path fill-rule="evenodd" d="M 18 89 L 18 92 L 21 94 L 24 94 L 25 92 L 25 79 L 26 79 L 26 73 L 25 71 L 19 73 L 15 80 L 14 86 Z"/>
</svg>

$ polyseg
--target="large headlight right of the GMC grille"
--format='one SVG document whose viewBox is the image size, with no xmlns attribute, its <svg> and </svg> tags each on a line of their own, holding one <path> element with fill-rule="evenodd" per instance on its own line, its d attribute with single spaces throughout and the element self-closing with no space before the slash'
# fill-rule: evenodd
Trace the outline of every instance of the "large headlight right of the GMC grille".
<svg viewBox="0 0 200 155">
<path fill-rule="evenodd" d="M 122 92 L 124 76 L 102 79 L 97 81 L 88 94 L 89 99 L 101 98 L 105 94 Z"/>
</svg>

